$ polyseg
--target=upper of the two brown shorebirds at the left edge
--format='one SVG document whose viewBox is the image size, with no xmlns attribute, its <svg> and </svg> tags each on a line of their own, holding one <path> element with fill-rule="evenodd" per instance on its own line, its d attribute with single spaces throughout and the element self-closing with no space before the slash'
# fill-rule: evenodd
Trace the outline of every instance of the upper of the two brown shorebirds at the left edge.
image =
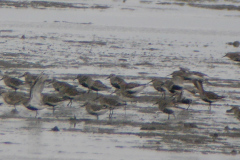
<svg viewBox="0 0 240 160">
<path fill-rule="evenodd" d="M 8 75 L 3 75 L 2 79 L 5 83 L 6 86 L 13 88 L 15 92 L 17 89 L 21 88 L 21 86 L 24 85 L 24 82 L 21 81 L 20 79 L 10 77 Z"/>
</svg>

